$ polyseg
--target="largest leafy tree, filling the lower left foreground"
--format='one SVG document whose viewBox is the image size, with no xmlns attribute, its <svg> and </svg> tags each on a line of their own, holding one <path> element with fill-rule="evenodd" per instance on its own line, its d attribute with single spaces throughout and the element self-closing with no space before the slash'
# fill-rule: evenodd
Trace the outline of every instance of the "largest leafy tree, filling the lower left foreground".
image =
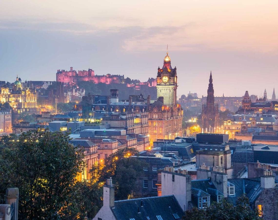
<svg viewBox="0 0 278 220">
<path fill-rule="evenodd" d="M 6 188 L 19 188 L 19 219 L 83 216 L 83 198 L 77 195 L 84 190 L 76 176 L 84 171 L 84 155 L 68 141 L 68 134 L 48 131 L 1 140 L 0 195 Z"/>
</svg>

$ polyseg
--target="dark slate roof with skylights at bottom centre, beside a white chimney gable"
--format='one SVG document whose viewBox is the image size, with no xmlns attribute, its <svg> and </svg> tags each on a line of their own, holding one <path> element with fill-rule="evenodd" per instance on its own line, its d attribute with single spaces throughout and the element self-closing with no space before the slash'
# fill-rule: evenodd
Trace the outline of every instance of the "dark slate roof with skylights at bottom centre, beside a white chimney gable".
<svg viewBox="0 0 278 220">
<path fill-rule="evenodd" d="M 142 205 L 141 206 L 141 202 Z M 139 208 L 139 213 L 138 213 Z M 115 201 L 115 207 L 111 208 L 116 219 L 136 219 L 146 220 L 157 219 L 160 215 L 162 219 L 175 219 L 173 214 L 182 218 L 184 215 L 177 199 L 173 195 L 160 197 L 146 197 L 138 199 L 128 199 Z"/>
</svg>

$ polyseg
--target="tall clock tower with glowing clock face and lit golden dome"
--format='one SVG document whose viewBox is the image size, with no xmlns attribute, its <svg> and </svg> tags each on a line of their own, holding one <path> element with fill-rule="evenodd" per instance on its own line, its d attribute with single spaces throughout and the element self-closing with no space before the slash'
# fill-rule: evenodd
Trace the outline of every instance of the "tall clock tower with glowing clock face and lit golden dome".
<svg viewBox="0 0 278 220">
<path fill-rule="evenodd" d="M 177 68 L 171 66 L 171 59 L 164 57 L 163 67 L 157 71 L 157 98 L 163 96 L 164 104 L 173 109 L 177 106 Z"/>
</svg>

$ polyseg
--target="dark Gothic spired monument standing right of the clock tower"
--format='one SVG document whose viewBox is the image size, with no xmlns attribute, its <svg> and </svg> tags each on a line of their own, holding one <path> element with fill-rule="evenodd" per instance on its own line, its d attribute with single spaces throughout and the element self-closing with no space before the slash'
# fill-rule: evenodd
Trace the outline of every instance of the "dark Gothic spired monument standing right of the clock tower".
<svg viewBox="0 0 278 220">
<path fill-rule="evenodd" d="M 214 102 L 214 89 L 212 84 L 212 74 L 210 71 L 209 88 L 207 90 L 207 103 L 202 106 L 202 128 L 211 133 L 219 127 L 219 106 Z"/>
</svg>

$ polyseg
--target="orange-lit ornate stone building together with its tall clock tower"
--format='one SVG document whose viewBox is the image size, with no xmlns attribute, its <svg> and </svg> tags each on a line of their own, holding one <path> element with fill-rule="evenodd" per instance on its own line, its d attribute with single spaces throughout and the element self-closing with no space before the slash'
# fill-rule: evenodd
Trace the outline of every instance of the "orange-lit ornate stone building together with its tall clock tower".
<svg viewBox="0 0 278 220">
<path fill-rule="evenodd" d="M 157 139 L 174 139 L 183 135 L 183 110 L 177 104 L 177 68 L 172 68 L 168 52 L 162 69 L 158 67 L 156 87 L 157 101 L 150 104 L 151 97 L 147 98 L 151 145 Z"/>
</svg>

